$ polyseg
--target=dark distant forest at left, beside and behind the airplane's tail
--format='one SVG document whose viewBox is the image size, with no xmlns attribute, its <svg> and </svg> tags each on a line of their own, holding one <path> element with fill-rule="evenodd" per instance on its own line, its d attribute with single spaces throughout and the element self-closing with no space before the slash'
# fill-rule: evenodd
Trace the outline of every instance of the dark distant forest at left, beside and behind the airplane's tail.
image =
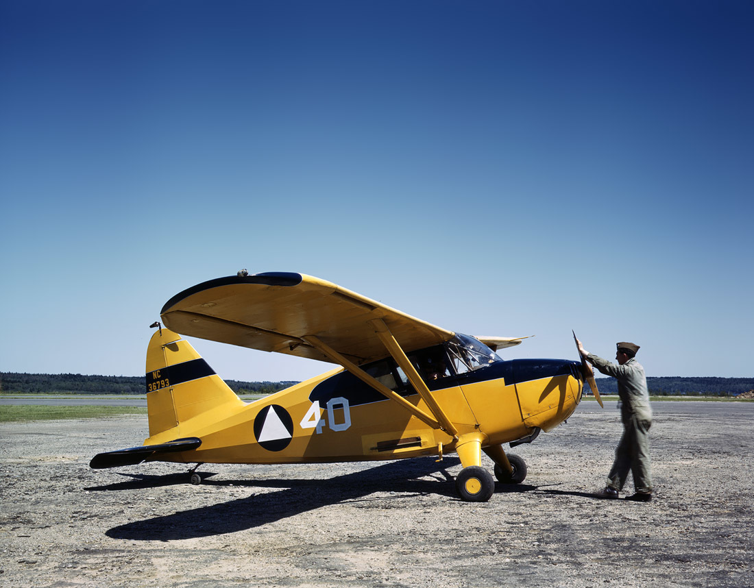
<svg viewBox="0 0 754 588">
<path fill-rule="evenodd" d="M 296 381 L 225 380 L 236 394 L 272 394 Z M 143 375 L 18 374 L 0 372 L 3 394 L 146 394 Z"/>
</svg>

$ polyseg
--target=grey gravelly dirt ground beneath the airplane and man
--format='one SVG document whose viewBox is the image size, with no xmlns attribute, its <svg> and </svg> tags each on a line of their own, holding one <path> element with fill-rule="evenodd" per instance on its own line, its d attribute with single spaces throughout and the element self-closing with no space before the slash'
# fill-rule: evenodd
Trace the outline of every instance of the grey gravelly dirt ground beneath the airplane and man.
<svg viewBox="0 0 754 588">
<path fill-rule="evenodd" d="M 176 464 L 89 469 L 140 445 L 146 416 L 4 424 L 0 586 L 743 588 L 752 425 L 754 403 L 656 403 L 655 500 L 600 501 L 621 424 L 615 402 L 584 402 L 513 450 L 522 485 L 470 504 L 455 456 L 206 465 L 195 486 Z"/>
</svg>

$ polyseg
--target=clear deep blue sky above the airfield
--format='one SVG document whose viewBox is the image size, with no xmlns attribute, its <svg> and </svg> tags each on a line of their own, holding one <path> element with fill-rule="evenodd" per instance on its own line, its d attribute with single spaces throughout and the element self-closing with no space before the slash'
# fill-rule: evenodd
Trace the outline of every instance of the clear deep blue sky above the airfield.
<svg viewBox="0 0 754 588">
<path fill-rule="evenodd" d="M 752 376 L 750 2 L 0 2 L 0 371 L 298 271 L 503 357 Z M 328 366 L 192 340 L 225 378 Z"/>
</svg>

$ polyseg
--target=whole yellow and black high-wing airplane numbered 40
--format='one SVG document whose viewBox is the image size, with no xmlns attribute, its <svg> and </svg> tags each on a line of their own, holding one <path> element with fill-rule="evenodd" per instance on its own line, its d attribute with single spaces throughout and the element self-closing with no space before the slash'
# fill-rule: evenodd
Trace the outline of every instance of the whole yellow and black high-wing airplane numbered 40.
<svg viewBox="0 0 754 588">
<path fill-rule="evenodd" d="M 334 283 L 270 272 L 222 277 L 173 296 L 146 355 L 149 439 L 96 455 L 90 467 L 143 461 L 295 464 L 415 458 L 455 452 L 464 501 L 520 483 L 526 463 L 504 443 L 531 443 L 565 421 L 589 364 L 501 360 L 523 338 L 470 337 L 425 323 Z M 167 327 L 167 328 L 166 328 Z M 338 364 L 244 403 L 181 335 Z M 602 402 L 600 401 L 600 405 Z"/>
</svg>

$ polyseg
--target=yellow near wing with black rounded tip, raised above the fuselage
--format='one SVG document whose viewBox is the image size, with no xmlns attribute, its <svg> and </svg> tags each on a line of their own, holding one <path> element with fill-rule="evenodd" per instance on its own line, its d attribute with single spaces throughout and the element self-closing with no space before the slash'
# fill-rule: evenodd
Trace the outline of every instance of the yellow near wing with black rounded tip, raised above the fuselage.
<svg viewBox="0 0 754 588">
<path fill-rule="evenodd" d="M 330 363 L 304 338 L 316 337 L 363 363 L 388 355 L 370 320 L 385 321 L 406 350 L 454 335 L 326 280 L 283 272 L 200 283 L 173 296 L 160 314 L 164 325 L 181 335 Z"/>
</svg>

